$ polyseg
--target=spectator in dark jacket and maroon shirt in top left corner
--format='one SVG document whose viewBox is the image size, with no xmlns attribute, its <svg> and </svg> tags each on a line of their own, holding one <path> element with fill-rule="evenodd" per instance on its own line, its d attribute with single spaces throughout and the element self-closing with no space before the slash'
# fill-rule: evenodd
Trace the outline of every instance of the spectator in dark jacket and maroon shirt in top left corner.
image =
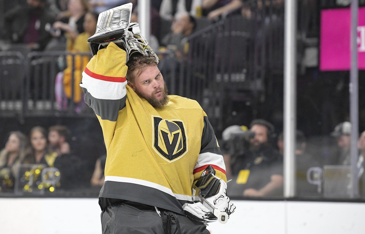
<svg viewBox="0 0 365 234">
<path fill-rule="evenodd" d="M 52 36 L 49 28 L 54 16 L 46 8 L 46 0 L 27 0 L 5 13 L 5 30 L 12 43 L 23 43 L 29 50 L 42 51 Z"/>
</svg>

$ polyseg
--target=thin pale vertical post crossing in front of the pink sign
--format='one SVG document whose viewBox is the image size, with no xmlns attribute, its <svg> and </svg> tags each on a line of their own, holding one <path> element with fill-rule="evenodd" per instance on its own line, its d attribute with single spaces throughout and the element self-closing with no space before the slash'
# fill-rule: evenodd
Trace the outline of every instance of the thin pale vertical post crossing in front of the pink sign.
<svg viewBox="0 0 365 234">
<path fill-rule="evenodd" d="M 357 24 L 359 1 L 351 0 L 351 68 L 350 68 L 350 121 L 351 121 L 351 198 L 359 196 L 357 178 L 357 140 L 359 138 L 359 88 L 357 63 Z"/>
</svg>

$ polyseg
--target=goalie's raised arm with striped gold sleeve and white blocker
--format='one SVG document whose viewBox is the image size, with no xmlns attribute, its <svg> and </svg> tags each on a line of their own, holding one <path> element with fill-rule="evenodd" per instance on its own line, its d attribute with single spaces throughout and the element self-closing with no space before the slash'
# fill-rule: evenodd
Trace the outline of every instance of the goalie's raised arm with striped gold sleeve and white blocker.
<svg viewBox="0 0 365 234">
<path fill-rule="evenodd" d="M 128 67 L 125 48 L 132 5 L 100 13 L 96 32 L 88 39 L 93 57 L 82 73 L 85 102 L 101 120 L 115 122 L 126 102 Z"/>
</svg>

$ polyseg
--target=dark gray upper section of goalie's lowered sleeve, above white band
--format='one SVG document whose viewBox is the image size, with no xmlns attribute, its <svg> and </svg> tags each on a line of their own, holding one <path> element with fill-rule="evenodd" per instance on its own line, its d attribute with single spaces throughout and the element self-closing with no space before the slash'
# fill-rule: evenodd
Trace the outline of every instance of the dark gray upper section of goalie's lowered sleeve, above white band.
<svg viewBox="0 0 365 234">
<path fill-rule="evenodd" d="M 203 134 L 201 135 L 200 154 L 206 152 L 221 155 L 220 149 L 217 146 L 217 139 L 215 138 L 213 127 L 210 124 L 208 117 L 204 116 L 204 128 Z"/>
</svg>

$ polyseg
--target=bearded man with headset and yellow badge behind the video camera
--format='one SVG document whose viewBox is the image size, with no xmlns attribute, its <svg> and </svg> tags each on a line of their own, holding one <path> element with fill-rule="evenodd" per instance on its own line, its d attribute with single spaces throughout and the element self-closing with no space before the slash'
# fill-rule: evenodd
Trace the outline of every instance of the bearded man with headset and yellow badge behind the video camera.
<svg viewBox="0 0 365 234">
<path fill-rule="evenodd" d="M 255 119 L 250 124 L 250 131 L 254 136 L 241 138 L 243 147 L 240 150 L 229 149 L 233 182 L 227 194 L 247 197 L 281 195 L 283 159 L 272 145 L 274 126 L 266 120 Z M 237 146 L 237 143 L 231 145 Z"/>
</svg>

